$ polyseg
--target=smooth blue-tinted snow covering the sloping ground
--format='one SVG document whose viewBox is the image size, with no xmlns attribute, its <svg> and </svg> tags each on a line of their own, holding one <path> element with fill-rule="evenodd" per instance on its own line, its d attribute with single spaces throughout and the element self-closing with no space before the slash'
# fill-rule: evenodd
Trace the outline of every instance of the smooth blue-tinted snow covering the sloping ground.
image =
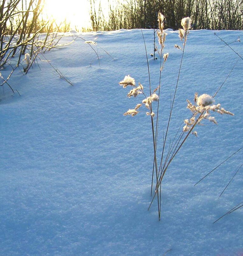
<svg viewBox="0 0 243 256">
<path fill-rule="evenodd" d="M 186 99 L 213 95 L 239 58 L 222 47 L 243 31 L 190 31 L 171 122 L 171 134 L 189 118 Z M 161 118 L 168 118 L 182 52 L 178 32 L 168 31 L 162 72 Z M 153 30 L 144 30 L 152 88 Z M 234 116 L 216 115 L 190 135 L 162 184 L 161 221 L 150 203 L 153 141 L 149 117 L 123 116 L 142 98 L 127 98 L 119 86 L 130 74 L 148 92 L 147 61 L 140 30 L 82 33 L 83 40 L 45 53 L 74 86 L 38 61 L 0 88 L 1 256 L 242 256 L 242 151 L 204 175 L 242 146 L 243 60 L 239 59 L 215 98 Z M 63 42 L 71 41 L 65 37 Z M 156 40 L 157 41 L 157 40 Z M 230 44 L 243 56 L 242 42 Z M 96 49 L 96 47 L 95 47 Z M 40 55 L 40 58 L 42 56 Z M 10 69 L 1 70 L 6 77 Z M 161 119 L 161 130 L 165 123 Z M 160 138 L 161 141 L 161 138 Z M 162 141 L 161 143 L 162 144 Z"/>
</svg>

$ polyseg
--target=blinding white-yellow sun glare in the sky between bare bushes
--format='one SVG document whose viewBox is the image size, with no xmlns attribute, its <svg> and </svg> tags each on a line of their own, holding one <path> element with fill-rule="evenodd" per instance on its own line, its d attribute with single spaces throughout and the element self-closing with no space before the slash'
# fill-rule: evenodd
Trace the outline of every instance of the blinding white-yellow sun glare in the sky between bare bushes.
<svg viewBox="0 0 243 256">
<path fill-rule="evenodd" d="M 70 22 L 71 28 L 79 30 L 90 27 L 88 0 L 45 0 L 43 14 L 57 23 Z"/>
</svg>

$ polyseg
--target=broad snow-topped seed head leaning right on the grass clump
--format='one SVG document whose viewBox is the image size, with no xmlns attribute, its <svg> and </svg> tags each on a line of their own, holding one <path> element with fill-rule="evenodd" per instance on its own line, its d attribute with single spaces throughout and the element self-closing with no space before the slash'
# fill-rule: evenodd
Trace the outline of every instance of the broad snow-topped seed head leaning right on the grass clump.
<svg viewBox="0 0 243 256">
<path fill-rule="evenodd" d="M 195 93 L 194 104 L 192 104 L 189 100 L 187 100 L 187 108 L 192 112 L 192 117 L 190 119 L 185 119 L 185 126 L 183 127 L 184 132 L 189 132 L 194 129 L 194 127 L 204 119 L 209 120 L 214 124 L 218 124 L 215 117 L 211 116 L 212 112 L 219 114 L 228 114 L 234 115 L 233 113 L 226 111 L 224 108 L 220 106 L 220 104 L 213 105 L 215 100 L 208 94 L 202 94 L 198 97 L 197 93 Z M 197 136 L 196 131 L 192 131 L 192 133 Z"/>
</svg>

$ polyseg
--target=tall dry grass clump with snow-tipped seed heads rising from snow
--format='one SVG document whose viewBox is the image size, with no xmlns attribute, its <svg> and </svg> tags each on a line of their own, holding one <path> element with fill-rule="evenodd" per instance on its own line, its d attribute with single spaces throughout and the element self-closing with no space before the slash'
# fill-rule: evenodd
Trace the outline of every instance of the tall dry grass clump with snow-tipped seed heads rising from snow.
<svg viewBox="0 0 243 256">
<path fill-rule="evenodd" d="M 182 46 L 179 46 L 175 44 L 175 48 L 182 51 L 182 57 L 180 61 L 180 67 L 177 75 L 177 82 L 175 84 L 175 90 L 174 94 L 171 97 L 170 102 L 170 109 L 169 109 L 169 117 L 166 120 L 166 127 L 165 132 L 163 131 L 162 135 L 162 152 L 159 153 L 157 151 L 158 146 L 158 127 L 159 127 L 159 114 L 160 114 L 160 91 L 161 91 L 161 73 L 164 68 L 164 65 L 169 58 L 169 53 L 164 53 L 164 46 L 166 41 L 166 33 L 164 31 L 164 16 L 159 13 L 158 14 L 158 41 L 159 41 L 159 47 L 156 46 L 157 52 L 159 53 L 160 57 L 160 69 L 159 69 L 159 86 L 156 87 L 153 92 L 151 89 L 151 82 L 150 82 L 150 71 L 149 71 L 149 64 L 148 64 L 148 58 L 147 58 L 147 66 L 148 66 L 148 74 L 149 74 L 149 96 L 146 96 L 146 93 L 144 91 L 144 87 L 139 83 L 138 86 L 136 86 L 135 79 L 128 76 L 125 76 L 125 78 L 119 82 L 120 85 L 123 86 L 123 88 L 126 88 L 127 86 L 131 86 L 132 89 L 127 94 L 127 96 L 130 97 L 137 97 L 140 94 L 144 96 L 144 99 L 141 101 L 141 103 L 137 104 L 135 108 L 129 109 L 127 112 L 124 113 L 124 115 L 131 115 L 135 116 L 139 112 L 145 112 L 147 116 L 150 116 L 151 120 L 151 127 L 152 127 L 152 136 L 153 136 L 153 147 L 154 147 L 154 164 L 153 164 L 153 171 L 152 171 L 152 182 L 151 182 L 151 196 L 154 191 L 154 196 L 151 200 L 150 206 L 152 205 L 155 197 L 157 198 L 157 205 L 158 205 L 158 216 L 159 220 L 161 219 L 161 184 L 162 180 L 164 178 L 164 175 L 178 153 L 178 151 L 181 149 L 182 145 L 185 143 L 186 139 L 188 138 L 189 134 L 192 133 L 195 136 L 197 136 L 197 131 L 194 130 L 196 125 L 199 125 L 200 122 L 204 119 L 209 120 L 213 122 L 214 124 L 217 124 L 217 121 L 215 117 L 211 116 L 211 112 L 219 113 L 219 114 L 229 114 L 233 115 L 233 113 L 226 111 L 224 108 L 220 106 L 220 104 L 214 105 L 214 97 L 218 93 L 218 91 L 214 94 L 213 97 L 211 97 L 208 94 L 202 94 L 201 96 L 198 96 L 197 93 L 195 93 L 194 97 L 194 104 L 192 104 L 189 100 L 187 100 L 187 108 L 191 111 L 191 117 L 189 119 L 185 119 L 184 123 L 185 126 L 181 130 L 181 126 L 178 128 L 177 133 L 175 134 L 174 138 L 170 138 L 168 142 L 168 134 L 170 131 L 170 122 L 171 117 L 173 113 L 173 108 L 175 105 L 175 99 L 176 99 L 176 92 L 178 89 L 178 82 L 181 74 L 181 67 L 182 67 L 182 60 L 185 52 L 185 46 L 187 43 L 187 38 L 189 35 L 189 29 L 191 28 L 191 19 L 189 17 L 183 18 L 181 20 L 181 26 L 182 28 L 179 29 L 179 38 L 181 40 Z M 142 30 L 141 30 L 142 31 Z M 145 43 L 145 41 L 144 41 Z M 145 50 L 146 50 L 146 44 L 145 44 Z M 147 50 L 146 50 L 146 56 L 147 56 Z M 221 85 L 222 87 L 222 85 Z M 220 88 L 221 88 L 220 87 Z M 220 89 L 219 88 L 219 89 Z M 155 106 L 154 106 L 155 104 Z M 161 105 L 165 105 L 161 103 Z M 142 106 L 145 107 L 146 111 L 141 110 Z M 154 111 L 155 109 L 155 111 Z M 163 109 L 163 111 L 165 111 Z M 183 122 L 182 122 L 183 123 Z M 182 125 L 182 124 L 181 124 Z M 166 153 L 167 152 L 167 153 Z M 158 158 L 159 156 L 159 158 Z M 155 171 L 155 172 L 154 172 Z M 154 176 L 156 180 L 155 188 L 154 187 Z M 148 207 L 148 209 L 150 208 Z"/>
</svg>

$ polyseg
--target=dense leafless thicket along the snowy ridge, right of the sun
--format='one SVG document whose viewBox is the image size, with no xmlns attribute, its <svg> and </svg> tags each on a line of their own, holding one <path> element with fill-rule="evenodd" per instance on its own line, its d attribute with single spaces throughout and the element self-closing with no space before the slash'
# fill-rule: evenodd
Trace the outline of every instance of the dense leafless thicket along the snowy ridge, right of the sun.
<svg viewBox="0 0 243 256">
<path fill-rule="evenodd" d="M 243 0 L 127 0 L 109 4 L 108 19 L 98 4 L 90 1 L 92 30 L 158 28 L 158 12 L 166 17 L 165 28 L 177 30 L 181 19 L 190 17 L 192 29 L 242 30 Z M 97 7 L 98 6 L 98 7 Z"/>
</svg>

